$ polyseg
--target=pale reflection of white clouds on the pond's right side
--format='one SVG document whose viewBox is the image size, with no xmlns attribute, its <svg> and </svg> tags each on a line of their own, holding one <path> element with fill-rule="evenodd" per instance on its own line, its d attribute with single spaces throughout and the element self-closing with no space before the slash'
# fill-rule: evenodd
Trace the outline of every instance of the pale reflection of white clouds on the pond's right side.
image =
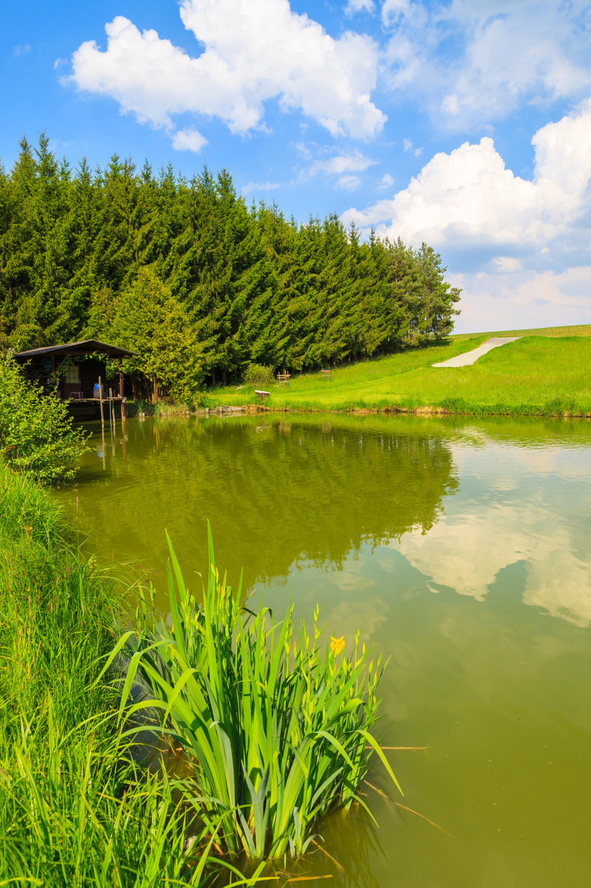
<svg viewBox="0 0 591 888">
<path fill-rule="evenodd" d="M 581 551 L 579 525 L 576 517 L 587 514 L 586 500 L 589 477 L 589 452 L 548 448 L 488 448 L 485 453 L 468 453 L 458 448 L 454 457 L 460 469 L 462 482 L 467 476 L 478 477 L 480 462 L 489 476 L 482 496 L 471 498 L 477 509 L 467 510 L 463 503 L 446 503 L 448 514 L 439 519 L 426 535 L 408 534 L 398 548 L 413 567 L 429 577 L 433 583 L 451 586 L 461 595 L 484 600 L 488 586 L 494 583 L 502 567 L 525 560 L 527 580 L 524 603 L 545 608 L 554 616 L 561 616 L 579 625 L 591 622 L 591 546 Z M 498 462 L 491 463 L 491 457 Z M 552 491 L 536 486 L 521 496 L 515 493 L 504 502 L 499 494 L 508 494 L 514 487 L 511 479 L 531 483 L 535 476 L 555 475 L 561 483 L 577 481 L 563 501 L 569 503 L 570 514 L 556 511 Z M 528 476 L 529 479 L 528 479 Z M 585 487 L 581 482 L 585 481 Z M 509 483 L 508 483 L 509 481 Z M 524 488 L 522 488 L 524 489 Z M 562 493 L 564 494 L 564 490 Z M 550 508 L 552 503 L 555 508 Z M 454 514 L 456 506 L 463 509 Z M 436 591 L 436 590 L 433 590 Z"/>
</svg>

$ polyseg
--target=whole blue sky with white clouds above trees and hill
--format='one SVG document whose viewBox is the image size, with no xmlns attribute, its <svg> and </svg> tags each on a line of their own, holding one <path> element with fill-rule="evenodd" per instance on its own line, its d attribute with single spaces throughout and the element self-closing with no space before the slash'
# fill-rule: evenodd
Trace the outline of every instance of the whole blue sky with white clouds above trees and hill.
<svg viewBox="0 0 591 888">
<path fill-rule="evenodd" d="M 591 4 L 13 4 L 0 156 L 225 167 L 298 219 L 439 250 L 459 331 L 591 323 Z"/>
</svg>

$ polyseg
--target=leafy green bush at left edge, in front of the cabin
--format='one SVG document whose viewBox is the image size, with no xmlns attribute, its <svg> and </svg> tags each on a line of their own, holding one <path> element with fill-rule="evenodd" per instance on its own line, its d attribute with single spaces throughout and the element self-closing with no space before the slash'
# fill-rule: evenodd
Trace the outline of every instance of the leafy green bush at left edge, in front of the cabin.
<svg viewBox="0 0 591 888">
<path fill-rule="evenodd" d="M 9 354 L 0 358 L 0 459 L 15 472 L 44 484 L 75 475 L 86 450 L 85 433 L 75 428 L 67 405 L 28 383 Z"/>
</svg>

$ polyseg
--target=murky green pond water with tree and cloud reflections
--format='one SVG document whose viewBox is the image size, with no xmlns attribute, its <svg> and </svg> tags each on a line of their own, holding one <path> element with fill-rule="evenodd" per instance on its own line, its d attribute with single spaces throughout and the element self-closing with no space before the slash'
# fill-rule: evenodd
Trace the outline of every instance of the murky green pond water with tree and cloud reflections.
<svg viewBox="0 0 591 888">
<path fill-rule="evenodd" d="M 335 813 L 307 882 L 567 888 L 591 876 L 591 425 L 240 416 L 92 426 L 59 496 L 105 557 L 163 586 L 217 563 L 277 614 L 319 604 L 389 658 L 365 813 Z M 162 597 L 162 607 L 165 599 Z M 350 649 L 350 648 L 348 648 Z M 399 802 L 434 821 L 395 805 Z M 445 831 L 443 831 L 445 830 Z M 332 875 L 328 882 L 319 876 Z"/>
</svg>

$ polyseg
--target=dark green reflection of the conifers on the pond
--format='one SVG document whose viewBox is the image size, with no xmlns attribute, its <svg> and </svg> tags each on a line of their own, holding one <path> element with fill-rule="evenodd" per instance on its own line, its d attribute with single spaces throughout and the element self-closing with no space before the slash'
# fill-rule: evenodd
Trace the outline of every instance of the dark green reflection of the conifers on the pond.
<svg viewBox="0 0 591 888">
<path fill-rule="evenodd" d="M 130 423 L 127 470 L 119 448 L 111 483 L 84 491 L 91 533 L 162 567 L 167 527 L 200 569 L 209 518 L 231 579 L 242 566 L 248 585 L 287 576 L 299 559 L 338 567 L 362 543 L 429 530 L 458 486 L 445 440 L 402 431 L 296 417 Z"/>
</svg>

